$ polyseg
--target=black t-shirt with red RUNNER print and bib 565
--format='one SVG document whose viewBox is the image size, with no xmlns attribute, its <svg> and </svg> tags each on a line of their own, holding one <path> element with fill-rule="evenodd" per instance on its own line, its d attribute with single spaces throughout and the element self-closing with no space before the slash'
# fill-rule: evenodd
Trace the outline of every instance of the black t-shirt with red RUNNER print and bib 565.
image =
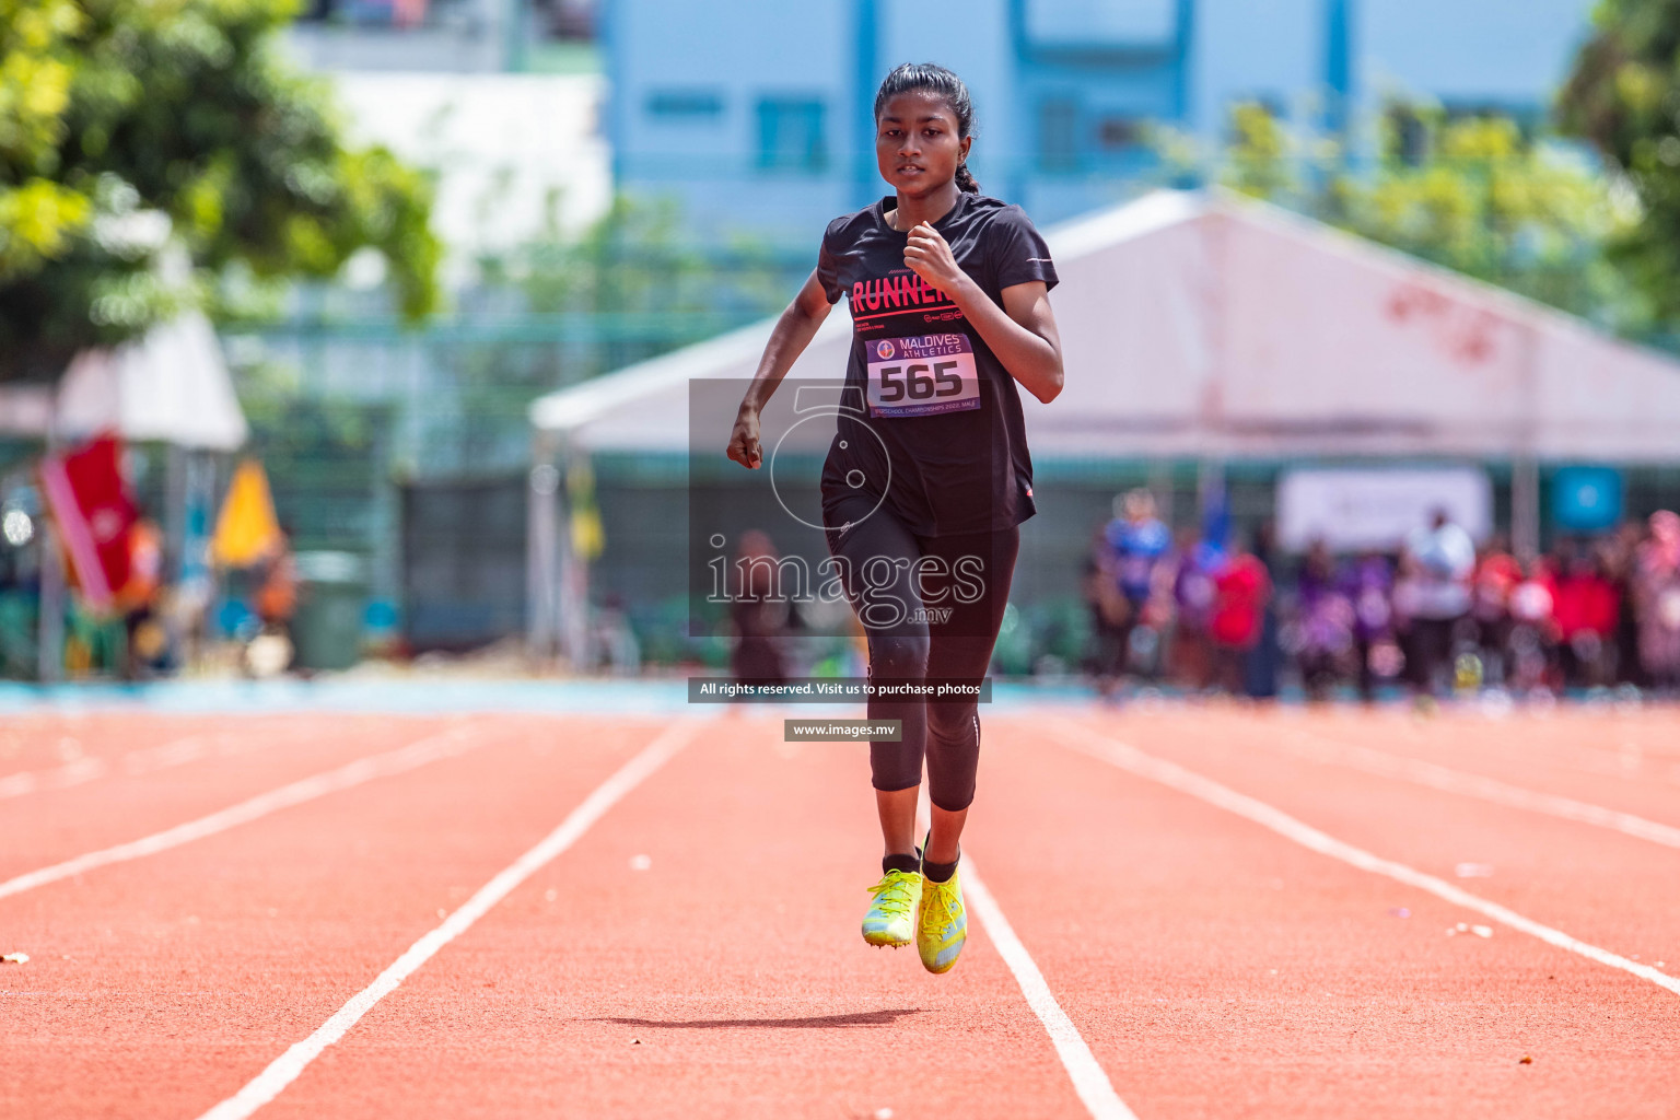
<svg viewBox="0 0 1680 1120">
<path fill-rule="evenodd" d="M 823 463 L 825 510 L 864 490 L 917 536 L 1010 529 L 1033 516 L 1021 398 L 1003 363 L 951 299 L 904 267 L 909 235 L 887 225 L 894 198 L 835 218 L 816 279 L 852 307 L 852 356 Z M 964 191 L 934 228 L 956 264 L 1003 306 L 1003 289 L 1055 265 L 1020 207 Z"/>
</svg>

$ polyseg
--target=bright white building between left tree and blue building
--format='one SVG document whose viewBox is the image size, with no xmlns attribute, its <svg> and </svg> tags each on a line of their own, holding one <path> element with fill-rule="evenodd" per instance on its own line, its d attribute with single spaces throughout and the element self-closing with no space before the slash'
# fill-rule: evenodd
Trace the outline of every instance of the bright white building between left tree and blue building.
<svg viewBox="0 0 1680 1120">
<path fill-rule="evenodd" d="M 287 47 L 333 76 L 351 139 L 435 175 L 454 284 L 605 213 L 595 0 L 311 0 Z"/>
</svg>

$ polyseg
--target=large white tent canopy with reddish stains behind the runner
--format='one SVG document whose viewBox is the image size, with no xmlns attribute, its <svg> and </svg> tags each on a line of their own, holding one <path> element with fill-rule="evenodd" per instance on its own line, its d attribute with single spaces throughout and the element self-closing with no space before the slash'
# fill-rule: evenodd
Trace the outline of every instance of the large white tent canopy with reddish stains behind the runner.
<svg viewBox="0 0 1680 1120">
<path fill-rule="evenodd" d="M 1159 191 L 1048 242 L 1067 390 L 1023 393 L 1035 458 L 1680 458 L 1675 359 L 1272 207 Z M 769 329 L 551 393 L 531 421 L 682 452 L 687 381 L 751 378 Z M 788 376 L 842 376 L 848 344 L 837 309 Z"/>
</svg>

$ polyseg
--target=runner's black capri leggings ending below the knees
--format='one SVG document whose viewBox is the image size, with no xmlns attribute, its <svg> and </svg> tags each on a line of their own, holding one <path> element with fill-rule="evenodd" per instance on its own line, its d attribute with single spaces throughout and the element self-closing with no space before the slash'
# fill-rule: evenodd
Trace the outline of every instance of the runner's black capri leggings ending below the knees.
<svg viewBox="0 0 1680 1120">
<path fill-rule="evenodd" d="M 869 635 L 870 680 L 979 678 L 1010 601 L 1020 529 L 916 536 L 865 492 L 825 502 L 828 552 Z M 874 509 L 874 512 L 870 512 Z M 858 521 L 853 521 L 858 519 Z M 973 699 L 870 699 L 870 719 L 902 720 L 900 742 L 872 741 L 875 789 L 911 789 L 956 813 L 974 799 L 979 712 Z"/>
</svg>

